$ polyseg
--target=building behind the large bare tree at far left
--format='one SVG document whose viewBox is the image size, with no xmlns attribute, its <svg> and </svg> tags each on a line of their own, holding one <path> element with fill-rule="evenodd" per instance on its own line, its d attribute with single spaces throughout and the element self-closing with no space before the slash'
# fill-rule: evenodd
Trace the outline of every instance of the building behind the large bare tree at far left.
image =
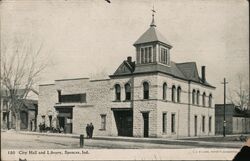
<svg viewBox="0 0 250 161">
<path fill-rule="evenodd" d="M 20 130 L 36 131 L 37 120 L 37 100 L 23 99 L 25 91 L 23 89 L 17 90 L 17 95 L 22 101 L 22 107 L 20 111 Z M 28 94 L 33 98 L 37 95 L 35 90 L 31 90 Z M 9 94 L 7 90 L 1 91 L 1 129 L 16 129 L 16 117 L 13 115 L 9 107 Z"/>
</svg>

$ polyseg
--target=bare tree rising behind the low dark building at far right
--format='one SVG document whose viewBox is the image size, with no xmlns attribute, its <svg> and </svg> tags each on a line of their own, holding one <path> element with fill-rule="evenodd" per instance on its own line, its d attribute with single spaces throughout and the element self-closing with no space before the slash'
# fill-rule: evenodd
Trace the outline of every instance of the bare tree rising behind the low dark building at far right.
<svg viewBox="0 0 250 161">
<path fill-rule="evenodd" d="M 249 105 L 249 85 L 243 74 L 238 74 L 236 87 L 229 89 L 228 100 L 238 106 L 240 110 L 246 110 Z"/>
</svg>

